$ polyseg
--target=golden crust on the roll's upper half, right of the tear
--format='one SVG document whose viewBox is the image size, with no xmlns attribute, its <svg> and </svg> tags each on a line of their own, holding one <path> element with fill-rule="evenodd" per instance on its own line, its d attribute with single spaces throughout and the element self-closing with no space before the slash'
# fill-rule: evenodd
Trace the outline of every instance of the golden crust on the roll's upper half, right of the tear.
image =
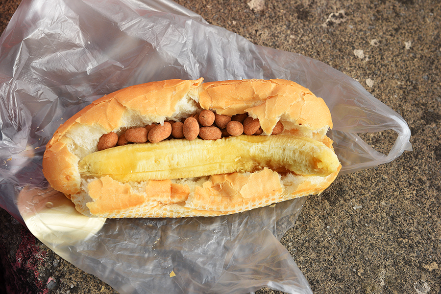
<svg viewBox="0 0 441 294">
<path fill-rule="evenodd" d="M 311 130 L 332 128 L 331 113 L 323 99 L 292 81 L 232 80 L 202 84 L 200 105 L 218 114 L 248 113 L 258 118 L 266 134 L 271 134 L 283 116 Z"/>
</svg>

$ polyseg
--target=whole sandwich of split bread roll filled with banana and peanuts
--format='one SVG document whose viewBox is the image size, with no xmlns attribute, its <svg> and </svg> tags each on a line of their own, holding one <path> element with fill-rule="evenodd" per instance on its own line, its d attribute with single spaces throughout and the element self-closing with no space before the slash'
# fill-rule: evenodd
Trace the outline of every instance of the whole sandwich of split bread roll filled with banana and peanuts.
<svg viewBox="0 0 441 294">
<path fill-rule="evenodd" d="M 49 184 L 90 217 L 191 217 L 319 194 L 337 177 L 341 165 L 326 136 L 331 114 L 310 90 L 280 79 L 202 81 L 131 86 L 73 115 L 46 146 L 43 173 Z M 228 121 L 245 115 L 258 122 L 260 132 L 219 138 L 216 123 L 208 129 L 201 124 L 204 110 Z M 163 130 L 184 122 L 176 126 L 185 131 L 187 120 L 194 118 L 199 119 L 193 121 L 196 138 L 190 138 L 193 129 L 187 127 L 189 139 L 158 131 L 167 139 L 125 140 L 98 151 L 99 144 L 128 137 L 128 130 L 155 125 Z M 216 136 L 201 139 L 202 130 Z M 143 136 L 150 139 L 152 132 L 143 131 Z M 106 134 L 115 137 L 105 139 Z"/>
</svg>

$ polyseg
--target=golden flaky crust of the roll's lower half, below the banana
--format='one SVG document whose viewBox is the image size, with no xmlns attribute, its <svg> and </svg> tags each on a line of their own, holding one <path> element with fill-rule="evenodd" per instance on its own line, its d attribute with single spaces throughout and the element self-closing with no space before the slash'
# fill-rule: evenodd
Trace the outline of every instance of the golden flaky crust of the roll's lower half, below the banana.
<svg viewBox="0 0 441 294">
<path fill-rule="evenodd" d="M 340 170 L 340 168 L 339 168 Z M 264 169 L 251 175 L 240 173 L 212 176 L 196 186 L 192 197 L 185 184 L 167 181 L 149 181 L 156 193 L 148 193 L 149 200 L 130 187 L 104 177 L 89 183 L 89 196 L 93 202 L 87 204 L 96 217 L 189 217 L 215 216 L 238 213 L 257 207 L 307 195 L 319 194 L 337 177 L 338 171 L 321 179 L 304 177 L 290 191 L 284 188 L 279 175 Z M 147 189 L 146 189 L 147 190 Z M 153 192 L 153 191 L 149 191 Z M 73 199 L 75 202 L 75 200 Z M 87 214 L 88 211 L 81 211 Z"/>
</svg>

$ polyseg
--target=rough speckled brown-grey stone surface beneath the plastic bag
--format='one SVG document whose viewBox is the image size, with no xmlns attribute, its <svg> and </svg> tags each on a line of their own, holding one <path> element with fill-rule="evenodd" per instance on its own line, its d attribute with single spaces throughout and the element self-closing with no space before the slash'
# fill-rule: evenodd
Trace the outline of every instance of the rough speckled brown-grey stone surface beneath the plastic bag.
<svg viewBox="0 0 441 294">
<path fill-rule="evenodd" d="M 413 152 L 339 177 L 307 200 L 282 238 L 314 293 L 441 293 L 440 2 L 178 3 L 255 44 L 337 68 L 400 113 L 411 128 Z M 1 31 L 15 7 L 15 1 L 0 2 Z M 389 132 L 363 135 L 386 153 L 394 137 Z M 3 276 L 13 277 L 16 286 L 25 285 L 20 287 L 31 293 L 116 293 L 51 252 L 4 210 L 0 217 Z"/>
</svg>

